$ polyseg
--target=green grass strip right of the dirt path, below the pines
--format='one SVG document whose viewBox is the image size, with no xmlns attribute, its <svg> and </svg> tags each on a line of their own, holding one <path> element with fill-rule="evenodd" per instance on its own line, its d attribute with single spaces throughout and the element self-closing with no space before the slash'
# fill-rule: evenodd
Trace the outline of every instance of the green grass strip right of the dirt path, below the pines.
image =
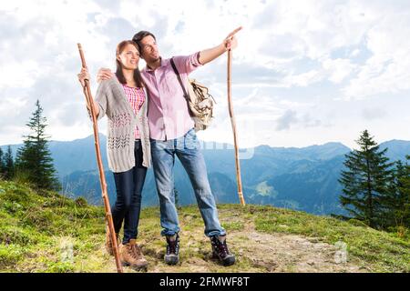
<svg viewBox="0 0 410 291">
<path fill-rule="evenodd" d="M 356 220 L 344 222 L 272 207 L 248 206 L 248 210 L 257 213 L 255 226 L 258 231 L 318 237 L 332 245 L 342 242 L 350 256 L 363 266 L 370 266 L 374 272 L 410 272 L 408 237 L 378 231 Z"/>
</svg>

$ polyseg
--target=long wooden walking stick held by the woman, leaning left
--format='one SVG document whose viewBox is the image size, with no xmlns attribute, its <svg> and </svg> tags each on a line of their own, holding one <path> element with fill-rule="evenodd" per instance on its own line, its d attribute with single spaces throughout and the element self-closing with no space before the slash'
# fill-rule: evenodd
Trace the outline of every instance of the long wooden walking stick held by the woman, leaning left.
<svg viewBox="0 0 410 291">
<path fill-rule="evenodd" d="M 77 44 L 77 45 L 78 45 L 78 51 L 81 57 L 81 64 L 83 68 L 86 68 L 87 65 L 86 65 L 86 59 L 84 58 L 83 49 L 80 44 Z M 98 125 L 97 125 L 96 112 L 94 111 L 94 101 L 93 101 L 93 97 L 91 95 L 91 90 L 89 87 L 89 80 L 86 79 L 84 84 L 85 85 L 83 87 L 83 91 L 84 91 L 84 95 L 86 96 L 87 107 L 89 108 L 89 111 L 91 112 L 91 118 L 93 121 L 94 145 L 96 146 L 97 165 L 98 165 L 98 170 L 99 170 L 99 182 L 101 186 L 102 198 L 104 201 L 104 208 L 106 210 L 106 219 L 108 223 L 109 236 L 111 237 L 114 257 L 116 259 L 117 271 L 118 273 L 122 273 L 123 271 L 122 271 L 122 266 L 119 260 L 119 253 L 118 253 L 117 236 L 116 236 L 116 232 L 114 230 L 114 224 L 112 221 L 111 207 L 109 206 L 106 176 L 104 174 L 104 168 L 103 168 L 102 159 L 101 159 L 101 151 L 99 148 Z"/>
</svg>

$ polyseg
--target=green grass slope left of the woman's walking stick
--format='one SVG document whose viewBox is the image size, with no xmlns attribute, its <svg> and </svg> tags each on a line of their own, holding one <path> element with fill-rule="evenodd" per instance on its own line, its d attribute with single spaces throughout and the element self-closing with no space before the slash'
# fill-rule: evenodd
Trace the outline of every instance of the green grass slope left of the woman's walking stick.
<svg viewBox="0 0 410 291">
<path fill-rule="evenodd" d="M 54 192 L 0 181 L 0 271 L 71 272 L 61 258 L 62 237 L 74 252 L 92 249 L 90 237 L 104 235 L 104 209 L 77 206 Z M 98 244 L 99 246 L 99 241 Z"/>
</svg>

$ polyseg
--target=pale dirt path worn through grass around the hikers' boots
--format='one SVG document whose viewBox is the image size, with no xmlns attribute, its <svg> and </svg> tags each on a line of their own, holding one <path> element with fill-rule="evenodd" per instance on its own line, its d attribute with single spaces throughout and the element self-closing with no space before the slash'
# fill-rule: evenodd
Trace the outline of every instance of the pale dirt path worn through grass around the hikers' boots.
<svg viewBox="0 0 410 291">
<path fill-rule="evenodd" d="M 245 231 L 231 231 L 228 242 L 237 256 L 238 264 L 223 267 L 210 258 L 210 244 L 203 236 L 200 227 L 193 232 L 181 233 L 180 264 L 166 266 L 163 263 L 164 244 L 156 246 L 140 241 L 140 246 L 149 260 L 149 272 L 367 272 L 364 267 L 351 262 L 345 256 L 343 246 L 332 246 L 314 238 L 287 234 L 265 234 L 255 231 L 252 225 Z M 113 258 L 105 253 L 103 247 L 96 256 L 88 259 L 103 259 L 104 269 L 97 272 L 113 272 Z M 125 267 L 125 272 L 135 272 Z"/>
</svg>

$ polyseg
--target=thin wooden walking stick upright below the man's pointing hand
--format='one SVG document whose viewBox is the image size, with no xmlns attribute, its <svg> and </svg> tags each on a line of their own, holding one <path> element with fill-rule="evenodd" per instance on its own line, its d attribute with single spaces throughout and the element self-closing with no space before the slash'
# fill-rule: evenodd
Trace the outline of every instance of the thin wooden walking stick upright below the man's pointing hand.
<svg viewBox="0 0 410 291">
<path fill-rule="evenodd" d="M 233 105 L 231 97 L 231 67 L 232 67 L 232 50 L 228 50 L 228 105 L 230 109 L 231 125 L 233 131 L 233 143 L 235 147 L 235 162 L 236 162 L 236 180 L 238 182 L 238 196 L 241 201 L 241 206 L 245 206 L 245 199 L 242 193 L 242 182 L 241 182 L 241 165 L 239 160 L 239 148 L 238 148 L 238 136 L 236 135 L 236 121 L 233 115 Z"/>
</svg>

